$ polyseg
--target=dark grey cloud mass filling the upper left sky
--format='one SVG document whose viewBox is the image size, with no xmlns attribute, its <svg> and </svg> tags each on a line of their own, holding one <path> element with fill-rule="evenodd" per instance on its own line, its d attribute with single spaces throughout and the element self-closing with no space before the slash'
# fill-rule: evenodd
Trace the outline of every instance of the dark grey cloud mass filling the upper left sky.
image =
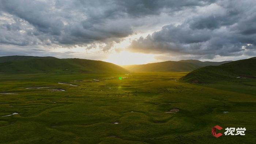
<svg viewBox="0 0 256 144">
<path fill-rule="evenodd" d="M 14 45 L 86 45 L 93 42 L 119 42 L 133 34 L 133 23 L 148 15 L 207 5 L 212 1 L 169 0 L 75 0 L 75 1 L 0 1 L 1 14 L 14 22 L 1 24 L 1 43 Z M 23 31 L 21 31 L 23 30 Z M 20 33 L 23 32 L 23 33 Z M 16 35 L 16 36 L 15 36 Z M 23 37 L 23 38 L 21 38 Z M 106 48 L 108 49 L 108 48 Z"/>
</svg>

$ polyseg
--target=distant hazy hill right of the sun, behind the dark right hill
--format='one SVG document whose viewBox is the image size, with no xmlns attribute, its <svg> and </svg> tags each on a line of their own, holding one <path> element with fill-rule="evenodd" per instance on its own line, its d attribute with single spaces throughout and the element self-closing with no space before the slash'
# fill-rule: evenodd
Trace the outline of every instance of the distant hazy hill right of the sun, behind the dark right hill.
<svg viewBox="0 0 256 144">
<path fill-rule="evenodd" d="M 145 71 L 145 72 L 189 72 L 197 68 L 207 65 L 221 65 L 230 61 L 223 62 L 211 62 L 211 61 L 199 61 L 199 60 L 181 60 L 181 61 L 165 61 L 155 62 L 142 65 L 124 65 L 123 68 L 129 71 Z"/>
</svg>

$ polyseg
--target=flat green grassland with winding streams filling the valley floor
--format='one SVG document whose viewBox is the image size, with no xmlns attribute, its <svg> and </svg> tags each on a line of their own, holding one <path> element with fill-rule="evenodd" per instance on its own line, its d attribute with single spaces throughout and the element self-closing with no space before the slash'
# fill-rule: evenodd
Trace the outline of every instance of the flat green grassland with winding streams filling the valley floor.
<svg viewBox="0 0 256 144">
<path fill-rule="evenodd" d="M 15 93 L 0 94 L 0 116 L 19 113 L 0 117 L 0 143 L 256 143 L 256 80 L 176 81 L 185 74 L 0 74 Z M 246 134 L 215 138 L 215 125 Z"/>
</svg>

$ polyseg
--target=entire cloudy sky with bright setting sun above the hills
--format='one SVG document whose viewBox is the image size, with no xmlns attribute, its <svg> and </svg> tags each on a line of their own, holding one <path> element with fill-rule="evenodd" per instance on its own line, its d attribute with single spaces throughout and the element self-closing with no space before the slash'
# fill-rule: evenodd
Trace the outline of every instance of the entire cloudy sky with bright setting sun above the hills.
<svg viewBox="0 0 256 144">
<path fill-rule="evenodd" d="M 255 0 L 0 0 L 0 56 L 225 61 L 255 45 Z"/>
</svg>

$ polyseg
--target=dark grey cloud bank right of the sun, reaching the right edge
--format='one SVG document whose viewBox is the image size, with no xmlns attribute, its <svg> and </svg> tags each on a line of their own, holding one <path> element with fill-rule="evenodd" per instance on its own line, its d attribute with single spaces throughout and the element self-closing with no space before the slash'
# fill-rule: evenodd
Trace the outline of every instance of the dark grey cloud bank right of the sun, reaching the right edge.
<svg viewBox="0 0 256 144">
<path fill-rule="evenodd" d="M 169 24 L 133 40 L 132 52 L 193 54 L 201 58 L 248 55 L 256 50 L 256 1 L 218 1 L 219 12 L 199 11 L 181 24 Z"/>
</svg>

